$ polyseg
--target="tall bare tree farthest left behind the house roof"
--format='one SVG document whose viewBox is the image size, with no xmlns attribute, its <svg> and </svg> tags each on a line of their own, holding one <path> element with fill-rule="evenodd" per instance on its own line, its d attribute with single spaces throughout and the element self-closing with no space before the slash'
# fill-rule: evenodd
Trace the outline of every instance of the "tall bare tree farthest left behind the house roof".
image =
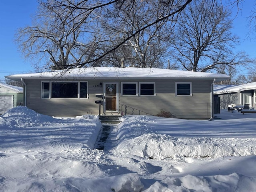
<svg viewBox="0 0 256 192">
<path fill-rule="evenodd" d="M 21 52 L 25 57 L 44 63 L 39 67 L 67 69 L 86 63 L 94 56 L 100 38 L 87 38 L 88 32 L 94 31 L 94 19 L 88 19 L 89 14 L 81 9 L 67 9 L 66 6 L 72 4 L 63 6 L 62 2 L 68 1 L 42 1 L 32 26 L 18 30 L 16 42 Z M 90 13 L 91 17 L 93 15 Z"/>
</svg>

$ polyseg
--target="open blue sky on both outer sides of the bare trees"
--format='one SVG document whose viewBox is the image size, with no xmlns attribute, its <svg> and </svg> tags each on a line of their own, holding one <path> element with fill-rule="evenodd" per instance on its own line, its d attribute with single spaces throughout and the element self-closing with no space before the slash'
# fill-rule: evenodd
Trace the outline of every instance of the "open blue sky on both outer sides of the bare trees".
<svg viewBox="0 0 256 192">
<path fill-rule="evenodd" d="M 250 57 L 256 58 L 256 40 L 246 38 L 248 36 L 248 20 L 254 6 L 254 0 L 246 1 L 242 11 L 234 19 L 234 29 L 232 30 L 241 39 L 241 44 L 236 46 L 236 50 L 246 52 Z M 18 52 L 17 45 L 14 43 L 14 34 L 20 27 L 31 24 L 31 16 L 37 11 L 38 3 L 36 0 L 12 0 L 1 2 L 0 12 L 0 80 L 4 76 L 17 74 L 20 72 L 30 72 L 34 68 L 32 64 L 22 59 Z M 236 9 L 234 9 L 236 11 Z M 247 74 L 247 71 L 244 71 Z"/>
</svg>

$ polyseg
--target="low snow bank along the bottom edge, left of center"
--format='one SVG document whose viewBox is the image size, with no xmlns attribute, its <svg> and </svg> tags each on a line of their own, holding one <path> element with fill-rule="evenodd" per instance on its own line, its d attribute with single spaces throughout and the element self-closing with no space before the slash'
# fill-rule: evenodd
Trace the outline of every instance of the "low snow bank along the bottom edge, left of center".
<svg viewBox="0 0 256 192">
<path fill-rule="evenodd" d="M 137 174 L 124 174 L 99 179 L 58 178 L 20 183 L 19 191 L 31 192 L 141 192 L 143 184 Z M 8 192 L 16 191 L 11 186 Z M 1 191 L 1 189 L 0 189 Z"/>
</svg>

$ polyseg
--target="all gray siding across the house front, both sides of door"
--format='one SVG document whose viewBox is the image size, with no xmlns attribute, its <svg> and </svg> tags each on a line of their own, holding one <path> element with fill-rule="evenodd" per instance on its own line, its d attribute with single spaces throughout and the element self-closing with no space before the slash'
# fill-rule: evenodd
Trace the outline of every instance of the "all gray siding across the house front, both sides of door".
<svg viewBox="0 0 256 192">
<path fill-rule="evenodd" d="M 38 113 L 50 116 L 97 115 L 99 105 L 95 104 L 95 94 L 103 94 L 104 82 L 119 83 L 119 112 L 127 108 L 128 114 L 157 115 L 161 110 L 171 112 L 176 118 L 210 118 L 210 84 L 212 80 L 86 80 L 88 81 L 88 99 L 41 99 L 41 81 L 25 80 L 27 84 L 27 106 Z M 47 80 L 45 80 L 47 81 Z M 156 96 L 121 96 L 121 82 L 155 82 Z M 175 82 L 192 82 L 193 96 L 175 96 Z M 102 87 L 98 85 L 102 83 Z M 139 90 L 138 90 L 139 92 Z M 134 110 L 134 109 L 136 110 Z M 103 112 L 103 107 L 102 110 Z"/>
</svg>

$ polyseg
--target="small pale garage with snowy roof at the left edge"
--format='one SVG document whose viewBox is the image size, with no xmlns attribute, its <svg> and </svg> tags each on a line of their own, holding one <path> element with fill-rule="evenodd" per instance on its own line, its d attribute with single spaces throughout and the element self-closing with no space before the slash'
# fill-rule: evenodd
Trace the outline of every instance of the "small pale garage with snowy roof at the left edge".
<svg viewBox="0 0 256 192">
<path fill-rule="evenodd" d="M 22 105 L 23 88 L 0 83 L 0 114 Z"/>
</svg>

